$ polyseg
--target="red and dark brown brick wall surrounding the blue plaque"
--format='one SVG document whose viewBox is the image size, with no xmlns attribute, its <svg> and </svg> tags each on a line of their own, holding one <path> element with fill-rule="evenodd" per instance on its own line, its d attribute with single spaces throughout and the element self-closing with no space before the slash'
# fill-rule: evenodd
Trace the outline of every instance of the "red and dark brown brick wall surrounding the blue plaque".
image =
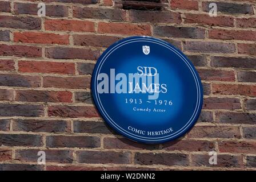
<svg viewBox="0 0 256 182">
<path fill-rule="evenodd" d="M 0 170 L 256 169 L 255 0 L 142 2 L 153 11 L 122 1 L 45 0 L 45 18 L 37 16 L 39 2 L 0 1 Z M 217 17 L 207 13 L 210 2 Z M 131 142 L 91 102 L 95 60 L 131 35 L 174 44 L 202 78 L 201 117 L 179 140 Z M 37 164 L 39 150 L 46 165 Z"/>
</svg>

